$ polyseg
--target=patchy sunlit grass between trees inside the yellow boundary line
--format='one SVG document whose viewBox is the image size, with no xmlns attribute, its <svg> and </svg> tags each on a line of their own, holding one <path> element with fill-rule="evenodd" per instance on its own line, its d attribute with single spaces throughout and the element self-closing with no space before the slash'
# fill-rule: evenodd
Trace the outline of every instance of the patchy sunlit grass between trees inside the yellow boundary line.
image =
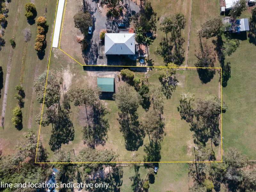
<svg viewBox="0 0 256 192">
<path fill-rule="evenodd" d="M 88 83 L 92 86 L 97 84 L 97 75 L 101 72 L 87 70 L 78 65 L 75 61 L 70 59 L 64 53 L 58 49 L 54 49 L 51 56 L 50 70 L 55 73 L 57 78 L 63 76 L 64 85 L 67 89 L 75 88 L 76 86 L 83 87 L 84 84 Z M 102 69 L 99 69 L 102 70 Z M 160 85 L 158 80 L 159 69 L 154 69 L 148 73 L 149 84 Z M 142 73 L 135 73 L 135 76 L 145 76 Z M 218 95 L 219 88 L 219 77 L 218 74 L 214 76 L 211 82 L 202 84 L 198 78 L 198 73 L 195 69 L 188 69 L 183 71 L 178 70 L 177 79 L 179 80 L 178 87 L 175 92 L 172 93 L 171 99 L 164 100 L 164 118 L 165 118 L 165 129 L 166 135 L 162 142 L 161 150 L 161 161 L 192 161 L 193 156 L 193 136 L 189 130 L 189 124 L 185 120 L 180 119 L 180 113 L 177 110 L 179 106 L 178 96 L 183 92 L 195 93 L 196 98 L 202 98 L 208 94 Z M 122 86 L 124 82 L 116 81 L 116 90 L 119 86 Z M 109 113 L 105 116 L 108 119 L 109 130 L 107 133 L 106 143 L 98 145 L 97 149 L 112 149 L 118 151 L 119 161 L 128 161 L 132 158 L 133 154 L 139 154 L 140 161 L 143 161 L 145 154 L 144 146 L 140 146 L 138 151 L 128 151 L 125 148 L 125 141 L 122 133 L 120 132 L 120 125 L 118 123 L 118 112 L 119 109 L 116 106 L 116 102 L 113 100 L 102 100 L 105 104 Z M 82 129 L 85 122 L 84 107 L 75 107 L 71 103 L 72 112 L 70 119 L 73 123 L 74 128 L 74 139 L 62 144 L 61 149 L 64 150 L 75 150 L 78 153 L 82 148 L 87 145 L 83 143 Z M 138 108 L 139 120 L 143 114 L 144 109 L 140 106 Z M 72 128 L 72 129 L 73 129 Z M 51 137 L 52 126 L 41 127 L 41 135 L 43 138 L 44 147 L 50 152 L 49 159 L 51 159 L 53 152 L 49 146 L 49 140 Z M 149 142 L 148 136 L 144 138 L 143 144 Z M 210 144 L 207 144 L 210 147 Z M 214 147 L 213 150 L 218 157 L 219 146 Z"/>
</svg>

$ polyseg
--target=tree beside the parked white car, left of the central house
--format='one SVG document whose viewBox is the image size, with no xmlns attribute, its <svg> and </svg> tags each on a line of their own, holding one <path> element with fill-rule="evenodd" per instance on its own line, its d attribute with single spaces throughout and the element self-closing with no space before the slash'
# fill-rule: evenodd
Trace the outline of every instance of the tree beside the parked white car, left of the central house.
<svg viewBox="0 0 256 192">
<path fill-rule="evenodd" d="M 88 28 L 92 26 L 92 17 L 89 12 L 78 12 L 74 16 L 75 27 L 79 28 L 84 36 L 87 36 Z"/>
</svg>

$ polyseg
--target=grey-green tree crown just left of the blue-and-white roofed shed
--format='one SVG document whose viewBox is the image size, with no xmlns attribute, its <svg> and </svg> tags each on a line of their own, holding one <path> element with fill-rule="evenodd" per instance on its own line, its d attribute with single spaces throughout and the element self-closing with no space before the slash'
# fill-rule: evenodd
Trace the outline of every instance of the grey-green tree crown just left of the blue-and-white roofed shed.
<svg viewBox="0 0 256 192">
<path fill-rule="evenodd" d="M 223 23 L 220 16 L 209 18 L 201 25 L 201 29 L 198 31 L 199 38 L 205 37 L 208 39 L 219 35 L 222 26 Z"/>
</svg>

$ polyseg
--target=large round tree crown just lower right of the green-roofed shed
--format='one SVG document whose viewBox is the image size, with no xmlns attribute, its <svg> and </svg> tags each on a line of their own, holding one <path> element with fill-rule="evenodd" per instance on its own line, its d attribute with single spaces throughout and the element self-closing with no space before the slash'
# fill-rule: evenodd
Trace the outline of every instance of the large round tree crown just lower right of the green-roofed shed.
<svg viewBox="0 0 256 192">
<path fill-rule="evenodd" d="M 119 87 L 114 97 L 118 109 L 127 116 L 137 110 L 141 100 L 140 95 L 129 85 Z"/>
</svg>

